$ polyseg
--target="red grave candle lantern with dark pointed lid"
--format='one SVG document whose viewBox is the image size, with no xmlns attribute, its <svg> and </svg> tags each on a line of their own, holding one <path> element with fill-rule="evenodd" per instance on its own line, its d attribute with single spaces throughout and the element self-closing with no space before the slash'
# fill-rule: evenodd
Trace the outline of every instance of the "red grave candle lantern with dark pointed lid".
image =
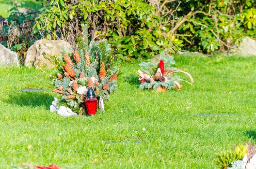
<svg viewBox="0 0 256 169">
<path fill-rule="evenodd" d="M 89 88 L 87 91 L 87 97 L 85 99 L 87 112 L 89 115 L 94 115 L 97 112 L 97 99 L 93 88 Z"/>
</svg>

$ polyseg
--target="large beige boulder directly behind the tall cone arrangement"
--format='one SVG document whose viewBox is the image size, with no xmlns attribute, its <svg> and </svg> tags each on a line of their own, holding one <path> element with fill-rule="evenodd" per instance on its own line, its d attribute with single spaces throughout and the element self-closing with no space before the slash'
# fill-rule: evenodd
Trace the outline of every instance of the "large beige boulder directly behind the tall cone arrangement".
<svg viewBox="0 0 256 169">
<path fill-rule="evenodd" d="M 71 45 L 64 40 L 49 41 L 46 39 L 36 41 L 27 52 L 25 66 L 31 68 L 53 68 L 51 62 L 45 55 L 61 56 L 63 52 L 71 49 Z"/>
</svg>

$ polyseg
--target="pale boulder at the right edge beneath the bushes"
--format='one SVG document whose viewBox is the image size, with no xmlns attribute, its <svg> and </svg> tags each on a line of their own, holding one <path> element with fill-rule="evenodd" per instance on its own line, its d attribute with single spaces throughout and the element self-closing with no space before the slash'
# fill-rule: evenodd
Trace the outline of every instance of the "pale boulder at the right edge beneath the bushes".
<svg viewBox="0 0 256 169">
<path fill-rule="evenodd" d="M 240 42 L 240 46 L 234 53 L 235 55 L 241 56 L 256 56 L 256 40 L 249 37 L 243 38 Z"/>
</svg>

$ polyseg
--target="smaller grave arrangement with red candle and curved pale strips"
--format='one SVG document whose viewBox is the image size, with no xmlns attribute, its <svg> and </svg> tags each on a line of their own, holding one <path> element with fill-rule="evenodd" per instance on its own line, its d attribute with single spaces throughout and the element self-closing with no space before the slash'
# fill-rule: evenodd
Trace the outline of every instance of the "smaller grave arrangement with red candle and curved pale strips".
<svg viewBox="0 0 256 169">
<path fill-rule="evenodd" d="M 189 84 L 193 83 L 193 78 L 191 74 L 186 71 L 176 69 L 171 67 L 175 65 L 174 57 L 167 57 L 164 53 L 160 55 L 159 63 L 152 62 L 141 62 L 138 70 L 140 74 L 140 89 L 155 89 L 157 92 L 166 92 L 168 89 L 177 88 L 181 90 L 181 81 L 187 82 Z M 191 82 L 181 79 L 176 73 L 181 72 L 186 74 Z"/>
</svg>

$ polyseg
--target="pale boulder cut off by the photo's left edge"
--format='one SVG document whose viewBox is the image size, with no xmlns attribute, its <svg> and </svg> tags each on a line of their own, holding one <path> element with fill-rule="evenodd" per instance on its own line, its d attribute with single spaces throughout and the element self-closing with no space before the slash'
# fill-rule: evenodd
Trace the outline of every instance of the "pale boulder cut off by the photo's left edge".
<svg viewBox="0 0 256 169">
<path fill-rule="evenodd" d="M 16 52 L 0 44 L 0 66 L 19 66 Z"/>
</svg>

